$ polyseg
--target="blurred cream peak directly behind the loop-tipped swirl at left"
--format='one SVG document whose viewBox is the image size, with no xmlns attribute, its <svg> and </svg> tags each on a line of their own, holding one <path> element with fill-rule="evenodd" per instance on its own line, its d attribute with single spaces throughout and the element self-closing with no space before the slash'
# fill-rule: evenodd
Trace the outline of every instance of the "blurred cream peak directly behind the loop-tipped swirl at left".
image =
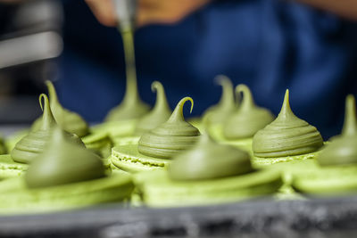
<svg viewBox="0 0 357 238">
<path fill-rule="evenodd" d="M 54 119 L 63 130 L 83 137 L 88 135 L 89 128 L 87 122 L 79 116 L 78 113 L 64 109 L 58 101 L 57 93 L 51 81 L 46 81 L 50 97 L 51 110 L 54 113 Z"/>
</svg>

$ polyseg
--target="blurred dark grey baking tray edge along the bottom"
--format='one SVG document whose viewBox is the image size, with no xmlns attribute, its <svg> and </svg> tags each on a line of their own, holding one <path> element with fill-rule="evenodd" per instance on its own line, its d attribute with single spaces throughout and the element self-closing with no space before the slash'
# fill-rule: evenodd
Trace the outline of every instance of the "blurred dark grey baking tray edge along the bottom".
<svg viewBox="0 0 357 238">
<path fill-rule="evenodd" d="M 357 196 L 0 217 L 1 237 L 356 237 Z"/>
</svg>

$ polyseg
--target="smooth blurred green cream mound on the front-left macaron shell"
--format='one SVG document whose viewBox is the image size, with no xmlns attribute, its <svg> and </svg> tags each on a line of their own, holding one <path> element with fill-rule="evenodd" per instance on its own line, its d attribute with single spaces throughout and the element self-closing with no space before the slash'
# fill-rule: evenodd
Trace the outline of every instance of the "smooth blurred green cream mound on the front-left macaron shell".
<svg viewBox="0 0 357 238">
<path fill-rule="evenodd" d="M 33 160 L 25 175 L 30 188 L 83 182 L 104 176 L 100 158 L 85 147 L 73 143 L 60 127 L 46 149 Z"/>
</svg>

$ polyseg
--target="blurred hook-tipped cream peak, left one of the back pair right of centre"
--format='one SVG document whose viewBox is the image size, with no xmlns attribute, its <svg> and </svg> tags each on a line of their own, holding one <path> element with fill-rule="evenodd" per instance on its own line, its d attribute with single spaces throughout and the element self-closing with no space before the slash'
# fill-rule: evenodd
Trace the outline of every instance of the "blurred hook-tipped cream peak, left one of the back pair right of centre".
<svg viewBox="0 0 357 238">
<path fill-rule="evenodd" d="M 222 86 L 220 102 L 207 109 L 203 113 L 203 117 L 209 115 L 212 123 L 221 123 L 237 109 L 237 103 L 230 79 L 226 76 L 219 75 L 215 78 L 215 81 L 218 85 Z"/>
</svg>

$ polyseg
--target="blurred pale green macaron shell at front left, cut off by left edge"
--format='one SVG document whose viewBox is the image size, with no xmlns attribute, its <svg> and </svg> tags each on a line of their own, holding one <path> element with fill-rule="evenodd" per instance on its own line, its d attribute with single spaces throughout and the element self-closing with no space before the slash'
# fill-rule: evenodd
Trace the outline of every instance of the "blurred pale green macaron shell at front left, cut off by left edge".
<svg viewBox="0 0 357 238">
<path fill-rule="evenodd" d="M 106 176 L 70 185 L 29 189 L 23 177 L 0 182 L 0 213 L 26 214 L 129 201 L 134 190 L 131 176 Z"/>
</svg>

